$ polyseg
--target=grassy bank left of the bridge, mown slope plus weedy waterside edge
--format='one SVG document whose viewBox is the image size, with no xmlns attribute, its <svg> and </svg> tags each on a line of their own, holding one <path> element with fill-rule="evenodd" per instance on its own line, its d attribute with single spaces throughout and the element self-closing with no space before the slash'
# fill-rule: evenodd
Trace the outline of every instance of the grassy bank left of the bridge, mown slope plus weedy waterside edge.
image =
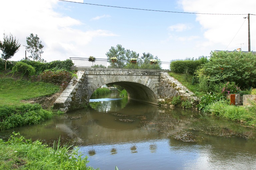
<svg viewBox="0 0 256 170">
<path fill-rule="evenodd" d="M 25 104 L 21 100 L 47 96 L 59 92 L 56 85 L 0 78 L 0 129 L 37 124 L 61 112 L 42 109 L 39 104 Z"/>
</svg>

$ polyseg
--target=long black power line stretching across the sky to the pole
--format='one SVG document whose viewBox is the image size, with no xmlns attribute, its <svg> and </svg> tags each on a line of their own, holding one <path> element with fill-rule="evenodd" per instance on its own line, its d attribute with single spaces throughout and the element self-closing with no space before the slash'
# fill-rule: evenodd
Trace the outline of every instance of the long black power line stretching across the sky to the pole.
<svg viewBox="0 0 256 170">
<path fill-rule="evenodd" d="M 65 1 L 65 0 L 59 0 L 59 1 L 64 1 L 64 2 L 73 2 L 73 1 Z M 140 8 L 128 8 L 128 7 L 109 6 L 109 5 L 89 4 L 89 3 L 82 3 L 82 2 L 73 2 L 73 3 L 87 4 L 87 5 L 96 5 L 96 6 L 103 6 L 103 7 L 113 7 L 113 8 L 124 8 L 124 9 L 144 10 L 144 11 L 170 12 L 170 13 L 182 13 L 182 14 L 247 15 L 247 14 L 210 14 L 210 13 L 195 13 L 195 12 L 175 12 L 175 11 L 161 11 L 161 10 L 151 10 L 151 9 L 140 9 Z M 250 14 L 250 15 L 254 15 L 254 14 Z"/>
</svg>

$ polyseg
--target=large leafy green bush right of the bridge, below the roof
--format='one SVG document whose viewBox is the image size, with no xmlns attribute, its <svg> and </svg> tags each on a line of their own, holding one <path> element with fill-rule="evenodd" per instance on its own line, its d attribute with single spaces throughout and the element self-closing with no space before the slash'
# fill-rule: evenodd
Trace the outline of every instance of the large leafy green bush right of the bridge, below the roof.
<svg viewBox="0 0 256 170">
<path fill-rule="evenodd" d="M 235 82 L 243 88 L 256 87 L 256 55 L 237 51 L 211 52 L 209 62 L 196 74 L 206 92 L 214 85 L 226 82 Z"/>
</svg>

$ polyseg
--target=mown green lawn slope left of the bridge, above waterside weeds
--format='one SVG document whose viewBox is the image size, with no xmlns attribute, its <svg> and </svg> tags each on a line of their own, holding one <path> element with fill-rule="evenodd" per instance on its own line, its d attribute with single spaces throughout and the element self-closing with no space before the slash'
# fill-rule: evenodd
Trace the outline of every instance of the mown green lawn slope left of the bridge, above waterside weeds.
<svg viewBox="0 0 256 170">
<path fill-rule="evenodd" d="M 21 100 L 51 95 L 59 90 L 50 83 L 0 78 L 0 105 L 20 105 Z"/>
</svg>

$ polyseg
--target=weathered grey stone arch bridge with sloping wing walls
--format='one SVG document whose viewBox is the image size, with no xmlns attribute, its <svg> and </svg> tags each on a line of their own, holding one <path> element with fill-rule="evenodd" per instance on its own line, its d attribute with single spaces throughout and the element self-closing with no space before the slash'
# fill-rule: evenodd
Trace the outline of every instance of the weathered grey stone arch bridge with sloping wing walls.
<svg viewBox="0 0 256 170">
<path fill-rule="evenodd" d="M 56 99 L 54 109 L 75 110 L 89 104 L 92 93 L 105 84 L 122 86 L 128 98 L 151 104 L 163 103 L 173 96 L 190 98 L 193 93 L 165 70 L 71 67 L 77 71 L 62 94 Z"/>
</svg>

